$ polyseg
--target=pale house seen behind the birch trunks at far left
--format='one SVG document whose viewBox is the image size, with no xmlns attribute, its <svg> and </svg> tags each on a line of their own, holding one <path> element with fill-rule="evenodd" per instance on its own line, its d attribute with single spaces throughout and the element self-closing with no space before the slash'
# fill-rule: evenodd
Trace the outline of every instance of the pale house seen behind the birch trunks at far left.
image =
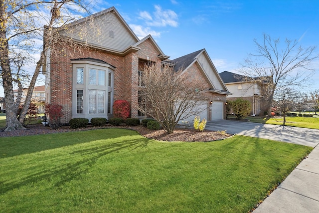
<svg viewBox="0 0 319 213">
<path fill-rule="evenodd" d="M 18 90 L 13 90 L 14 99 L 16 98 L 18 93 Z M 21 103 L 24 103 L 25 97 L 27 94 L 27 89 L 22 89 L 22 95 L 21 95 Z M 32 100 L 36 102 L 38 105 L 38 113 L 44 113 L 45 112 L 45 86 L 35 86 L 32 93 Z"/>
</svg>

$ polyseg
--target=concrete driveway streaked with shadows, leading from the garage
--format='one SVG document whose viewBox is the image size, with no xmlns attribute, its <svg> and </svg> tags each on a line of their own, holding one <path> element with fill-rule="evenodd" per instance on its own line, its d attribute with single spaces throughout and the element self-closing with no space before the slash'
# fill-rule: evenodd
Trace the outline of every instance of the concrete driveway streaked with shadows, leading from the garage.
<svg viewBox="0 0 319 213">
<path fill-rule="evenodd" d="M 226 133 L 265 138 L 316 147 L 319 144 L 319 130 L 299 127 L 259 124 L 233 120 L 208 121 L 207 130 L 223 131 Z"/>
</svg>

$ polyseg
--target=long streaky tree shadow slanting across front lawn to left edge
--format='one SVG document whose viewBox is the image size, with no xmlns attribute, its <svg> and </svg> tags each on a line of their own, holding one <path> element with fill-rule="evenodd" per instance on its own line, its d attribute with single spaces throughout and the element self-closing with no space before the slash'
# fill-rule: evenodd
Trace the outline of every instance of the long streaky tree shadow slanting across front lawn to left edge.
<svg viewBox="0 0 319 213">
<path fill-rule="evenodd" d="M 90 149 L 83 149 L 79 151 L 75 151 L 72 153 L 67 153 L 66 155 L 72 155 L 74 157 L 69 159 L 67 163 L 61 162 L 62 164 L 57 165 L 60 162 L 53 162 L 47 167 L 45 170 L 28 175 L 26 177 L 21 178 L 18 181 L 9 180 L 0 183 L 0 194 L 4 194 L 13 189 L 18 189 L 22 186 L 27 186 L 30 184 L 34 184 L 43 180 L 47 180 L 47 184 L 57 190 L 62 190 L 62 186 L 67 182 L 73 180 L 81 180 L 82 175 L 86 174 L 92 167 L 94 167 L 95 163 L 102 157 L 111 154 L 111 153 L 119 153 L 124 151 L 123 153 L 132 152 L 133 150 L 144 148 L 148 146 L 150 139 L 137 139 L 137 140 L 123 140 L 120 142 L 105 144 L 101 146 L 96 146 Z M 79 160 L 77 160 L 79 159 Z M 20 173 L 19 175 L 22 176 Z"/>
</svg>

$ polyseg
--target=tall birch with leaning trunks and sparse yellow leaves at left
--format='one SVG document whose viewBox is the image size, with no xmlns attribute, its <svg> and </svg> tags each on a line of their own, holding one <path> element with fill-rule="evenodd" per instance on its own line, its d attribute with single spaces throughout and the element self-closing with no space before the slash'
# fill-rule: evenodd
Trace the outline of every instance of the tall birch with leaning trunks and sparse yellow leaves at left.
<svg viewBox="0 0 319 213">
<path fill-rule="evenodd" d="M 73 8 L 75 5 L 83 8 L 81 2 L 78 0 L 0 0 L 0 74 L 7 109 L 5 130 L 24 128 L 22 123 L 28 111 L 36 79 L 45 63 L 45 57 L 54 49 L 55 44 L 67 45 L 66 41 L 59 42 L 61 39 L 59 31 L 75 19 L 72 13 Z M 44 15 L 46 12 L 49 15 Z M 43 21 L 46 24 L 45 28 L 43 28 Z M 21 99 L 18 97 L 17 101 L 14 101 L 13 82 L 17 83 L 19 91 L 22 91 L 22 84 L 18 80 L 21 78 L 20 73 L 12 72 L 12 64 L 14 62 L 19 70 L 24 61 L 13 59 L 18 58 L 17 52 L 21 50 L 28 50 L 30 54 L 35 53 L 35 40 L 43 40 L 43 46 L 40 48 L 40 58 L 36 62 L 34 72 L 30 75 L 23 108 L 17 114 L 17 106 Z M 70 38 L 67 38 L 67 41 L 72 43 Z M 77 45 L 83 46 L 78 43 Z"/>
</svg>

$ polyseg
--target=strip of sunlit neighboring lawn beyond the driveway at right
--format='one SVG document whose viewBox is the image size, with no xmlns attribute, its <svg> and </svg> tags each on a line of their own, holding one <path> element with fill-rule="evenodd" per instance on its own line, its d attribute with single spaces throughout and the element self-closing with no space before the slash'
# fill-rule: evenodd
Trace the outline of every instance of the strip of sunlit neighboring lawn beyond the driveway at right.
<svg viewBox="0 0 319 213">
<path fill-rule="evenodd" d="M 228 116 L 229 118 L 235 118 L 235 116 Z M 250 120 L 250 122 L 262 123 L 262 124 L 275 124 L 275 125 L 283 125 L 284 118 L 283 117 L 253 117 L 247 116 L 245 119 Z M 286 116 L 286 126 L 292 127 L 303 127 L 303 128 L 311 128 L 311 129 L 319 129 L 319 118 L 318 117 L 292 117 Z"/>
</svg>

